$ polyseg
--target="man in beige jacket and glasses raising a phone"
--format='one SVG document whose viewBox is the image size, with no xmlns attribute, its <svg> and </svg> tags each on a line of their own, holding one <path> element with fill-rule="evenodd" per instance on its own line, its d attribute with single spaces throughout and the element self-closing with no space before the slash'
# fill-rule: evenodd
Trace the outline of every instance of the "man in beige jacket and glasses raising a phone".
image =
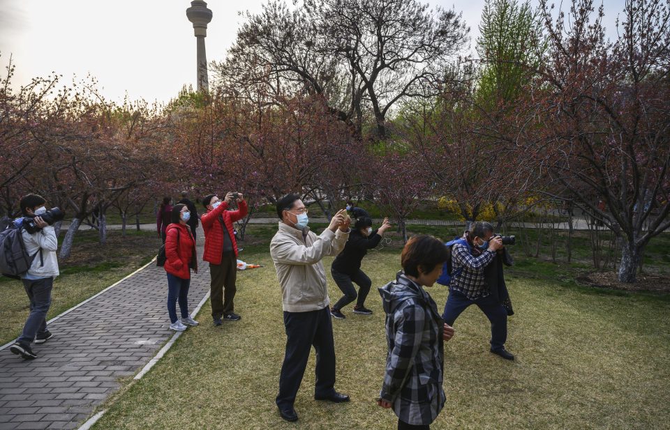
<svg viewBox="0 0 670 430">
<path fill-rule="evenodd" d="M 317 236 L 307 226 L 307 208 L 288 194 L 277 202 L 279 229 L 270 243 L 281 286 L 286 351 L 279 376 L 276 404 L 284 420 L 296 421 L 293 404 L 305 373 L 311 346 L 316 351 L 314 398 L 335 403 L 349 396 L 335 391 L 335 346 L 326 272 L 321 259 L 337 255 L 349 238 L 349 217 L 340 210 Z"/>
</svg>

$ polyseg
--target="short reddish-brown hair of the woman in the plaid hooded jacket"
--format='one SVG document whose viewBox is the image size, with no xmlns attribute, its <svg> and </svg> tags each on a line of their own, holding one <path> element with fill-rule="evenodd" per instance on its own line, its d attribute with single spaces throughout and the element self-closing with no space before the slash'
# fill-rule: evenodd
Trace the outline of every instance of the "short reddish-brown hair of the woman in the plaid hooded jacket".
<svg viewBox="0 0 670 430">
<path fill-rule="evenodd" d="M 419 276 L 419 268 L 424 273 L 432 272 L 447 259 L 449 254 L 442 240 L 427 234 L 410 238 L 400 257 L 405 275 L 410 276 Z"/>
</svg>

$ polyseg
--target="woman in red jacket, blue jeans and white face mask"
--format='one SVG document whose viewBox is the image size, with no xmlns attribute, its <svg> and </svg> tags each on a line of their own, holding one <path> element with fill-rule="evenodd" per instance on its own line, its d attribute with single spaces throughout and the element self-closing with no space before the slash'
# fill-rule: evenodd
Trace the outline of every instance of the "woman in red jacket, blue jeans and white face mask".
<svg viewBox="0 0 670 430">
<path fill-rule="evenodd" d="M 168 314 L 170 330 L 184 331 L 187 325 L 198 325 L 188 314 L 188 287 L 191 286 L 191 268 L 198 273 L 198 255 L 195 239 L 186 222 L 191 212 L 183 204 L 172 208 L 172 224 L 165 229 L 165 272 L 168 272 Z M 177 300 L 181 321 L 177 319 Z"/>
</svg>

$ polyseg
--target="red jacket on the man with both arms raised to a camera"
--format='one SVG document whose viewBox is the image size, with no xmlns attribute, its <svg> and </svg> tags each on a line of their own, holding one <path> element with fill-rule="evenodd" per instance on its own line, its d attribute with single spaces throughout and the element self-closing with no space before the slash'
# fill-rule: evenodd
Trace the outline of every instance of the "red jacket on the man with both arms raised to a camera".
<svg viewBox="0 0 670 430">
<path fill-rule="evenodd" d="M 235 252 L 235 258 L 237 258 L 237 240 L 232 230 L 232 223 L 246 217 L 246 201 L 240 201 L 237 206 L 239 207 L 237 210 L 226 210 L 228 209 L 228 204 L 225 201 L 221 201 L 218 208 L 207 210 L 207 213 L 200 216 L 200 222 L 204 230 L 204 253 L 202 254 L 204 261 L 209 261 L 212 264 L 221 264 L 223 229 L 221 229 L 221 222 L 218 222 L 219 216 L 223 216 L 223 224 L 228 229 L 232 249 Z"/>
</svg>

